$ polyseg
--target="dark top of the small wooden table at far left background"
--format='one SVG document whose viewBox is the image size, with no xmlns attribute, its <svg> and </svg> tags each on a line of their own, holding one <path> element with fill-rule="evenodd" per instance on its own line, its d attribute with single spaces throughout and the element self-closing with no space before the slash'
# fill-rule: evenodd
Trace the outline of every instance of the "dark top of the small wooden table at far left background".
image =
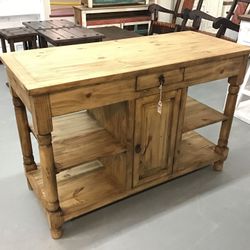
<svg viewBox="0 0 250 250">
<path fill-rule="evenodd" d="M 35 36 L 37 35 L 36 31 L 25 28 L 25 27 L 16 27 L 16 28 L 7 28 L 7 29 L 0 29 L 0 36 L 4 37 L 5 39 L 16 38 L 20 36 Z"/>
</svg>

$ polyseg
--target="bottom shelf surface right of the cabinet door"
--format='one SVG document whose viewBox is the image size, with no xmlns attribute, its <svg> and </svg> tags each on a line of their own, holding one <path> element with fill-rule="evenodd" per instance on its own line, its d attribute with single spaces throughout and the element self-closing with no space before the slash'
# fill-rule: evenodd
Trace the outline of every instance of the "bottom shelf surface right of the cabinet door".
<svg viewBox="0 0 250 250">
<path fill-rule="evenodd" d="M 217 154 L 214 148 L 215 144 L 194 131 L 183 134 L 174 170 L 188 173 L 192 169 L 205 167 L 222 159 L 222 156 Z"/>
</svg>

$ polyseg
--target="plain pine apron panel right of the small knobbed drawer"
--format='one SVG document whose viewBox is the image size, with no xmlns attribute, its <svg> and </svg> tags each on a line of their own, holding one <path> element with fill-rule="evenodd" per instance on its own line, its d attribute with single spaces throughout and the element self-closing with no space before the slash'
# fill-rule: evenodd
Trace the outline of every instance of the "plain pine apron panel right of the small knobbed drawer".
<svg viewBox="0 0 250 250">
<path fill-rule="evenodd" d="M 241 65 L 242 57 L 237 57 L 190 66 L 185 69 L 184 80 L 188 84 L 196 84 L 237 76 Z"/>
</svg>

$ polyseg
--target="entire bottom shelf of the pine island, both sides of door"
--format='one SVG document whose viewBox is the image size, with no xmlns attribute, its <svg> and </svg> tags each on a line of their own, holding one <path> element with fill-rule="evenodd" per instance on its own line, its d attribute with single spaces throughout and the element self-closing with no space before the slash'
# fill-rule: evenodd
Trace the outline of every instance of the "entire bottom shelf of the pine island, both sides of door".
<svg viewBox="0 0 250 250">
<path fill-rule="evenodd" d="M 215 145 L 196 132 L 183 135 L 180 153 L 172 175 L 126 190 L 111 177 L 107 166 L 99 161 L 82 164 L 57 174 L 59 203 L 64 221 L 86 214 L 97 208 L 143 191 L 183 174 L 205 167 L 222 156 L 214 152 Z M 40 168 L 27 174 L 29 182 L 45 207 L 45 193 Z"/>
</svg>

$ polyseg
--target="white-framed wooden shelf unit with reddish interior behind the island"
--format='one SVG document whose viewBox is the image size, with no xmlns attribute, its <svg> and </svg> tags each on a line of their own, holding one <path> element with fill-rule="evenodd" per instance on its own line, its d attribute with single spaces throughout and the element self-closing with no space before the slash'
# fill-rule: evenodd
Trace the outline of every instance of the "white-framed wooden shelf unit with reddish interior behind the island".
<svg viewBox="0 0 250 250">
<path fill-rule="evenodd" d="M 83 27 L 118 26 L 148 34 L 150 15 L 148 5 L 104 6 L 89 8 L 74 6 L 75 23 Z"/>
</svg>

